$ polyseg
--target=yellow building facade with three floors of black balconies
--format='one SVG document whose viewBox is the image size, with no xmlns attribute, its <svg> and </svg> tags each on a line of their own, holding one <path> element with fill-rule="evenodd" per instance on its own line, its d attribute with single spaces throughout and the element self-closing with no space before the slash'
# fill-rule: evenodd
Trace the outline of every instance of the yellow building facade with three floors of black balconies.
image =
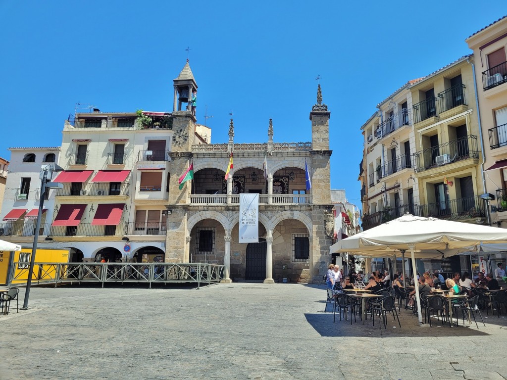
<svg viewBox="0 0 507 380">
<path fill-rule="evenodd" d="M 420 198 L 416 215 L 486 222 L 473 60 L 463 56 L 410 87 Z"/>
</svg>

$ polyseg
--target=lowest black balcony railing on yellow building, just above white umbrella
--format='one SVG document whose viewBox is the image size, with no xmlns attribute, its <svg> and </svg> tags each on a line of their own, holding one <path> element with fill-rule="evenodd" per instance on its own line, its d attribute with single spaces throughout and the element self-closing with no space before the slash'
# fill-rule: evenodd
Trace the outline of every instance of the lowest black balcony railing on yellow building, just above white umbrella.
<svg viewBox="0 0 507 380">
<path fill-rule="evenodd" d="M 429 203 L 417 207 L 419 216 L 440 219 L 466 219 L 484 217 L 484 200 L 479 196 Z"/>
</svg>

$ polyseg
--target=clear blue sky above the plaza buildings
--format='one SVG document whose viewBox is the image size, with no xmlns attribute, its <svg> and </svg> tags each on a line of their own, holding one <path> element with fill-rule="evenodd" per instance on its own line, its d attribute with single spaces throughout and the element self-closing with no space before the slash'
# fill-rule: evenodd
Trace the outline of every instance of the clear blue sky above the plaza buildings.
<svg viewBox="0 0 507 380">
<path fill-rule="evenodd" d="M 464 40 L 507 14 L 474 1 L 0 0 L 0 156 L 58 146 L 76 103 L 102 111 L 172 111 L 172 80 L 190 65 L 198 122 L 212 142 L 311 140 L 322 78 L 331 111 L 331 186 L 360 206 L 360 126 L 408 80 L 469 54 Z M 85 105 L 86 106 L 86 105 Z M 227 163 L 224 162 L 224 170 Z"/>
</svg>

